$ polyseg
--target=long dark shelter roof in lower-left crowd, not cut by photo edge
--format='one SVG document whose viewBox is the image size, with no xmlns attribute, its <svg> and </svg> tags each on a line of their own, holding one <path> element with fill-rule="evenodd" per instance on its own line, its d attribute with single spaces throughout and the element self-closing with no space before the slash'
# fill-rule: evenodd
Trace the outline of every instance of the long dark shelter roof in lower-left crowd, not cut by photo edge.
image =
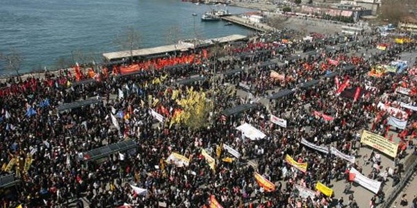
<svg viewBox="0 0 417 208">
<path fill-rule="evenodd" d="M 109 144 L 108 146 L 102 146 L 101 148 L 96 148 L 86 153 L 83 153 L 83 161 L 100 159 L 102 157 L 106 157 L 114 153 L 131 150 L 133 148 L 136 148 L 136 146 L 136 142 L 131 139 L 126 141 L 120 141 L 115 144 Z"/>
</svg>

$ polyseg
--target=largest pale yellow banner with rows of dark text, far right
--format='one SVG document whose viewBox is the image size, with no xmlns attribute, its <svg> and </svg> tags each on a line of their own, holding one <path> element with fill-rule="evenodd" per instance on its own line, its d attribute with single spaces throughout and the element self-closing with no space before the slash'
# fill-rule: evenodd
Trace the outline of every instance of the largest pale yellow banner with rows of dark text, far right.
<svg viewBox="0 0 417 208">
<path fill-rule="evenodd" d="M 395 144 L 382 136 L 374 134 L 373 132 L 363 130 L 361 143 L 371 146 L 391 157 L 397 156 L 398 144 Z"/>
</svg>

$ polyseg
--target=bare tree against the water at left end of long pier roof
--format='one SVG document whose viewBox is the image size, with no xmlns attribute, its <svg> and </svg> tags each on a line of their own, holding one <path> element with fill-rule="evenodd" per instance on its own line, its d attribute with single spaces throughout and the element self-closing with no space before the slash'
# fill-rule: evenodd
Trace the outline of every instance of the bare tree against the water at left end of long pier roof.
<svg viewBox="0 0 417 208">
<path fill-rule="evenodd" d="M 117 35 L 115 44 L 124 51 L 130 52 L 131 61 L 133 61 L 133 50 L 139 49 L 141 35 L 135 28 L 128 27 L 120 35 Z"/>
</svg>

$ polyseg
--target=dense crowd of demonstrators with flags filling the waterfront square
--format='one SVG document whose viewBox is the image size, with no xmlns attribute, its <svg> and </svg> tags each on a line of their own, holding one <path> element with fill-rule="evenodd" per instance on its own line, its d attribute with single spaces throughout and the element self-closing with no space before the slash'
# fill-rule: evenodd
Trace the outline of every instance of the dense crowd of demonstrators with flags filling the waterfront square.
<svg viewBox="0 0 417 208">
<path fill-rule="evenodd" d="M 357 159 L 350 163 L 300 143 L 305 139 L 318 146 L 334 146 L 346 155 L 358 155 L 361 130 L 379 135 L 386 135 L 389 130 L 386 120 L 391 112 L 380 110 L 377 103 L 390 103 L 407 112 L 407 128 L 398 134 L 403 142 L 400 150 L 414 148 L 417 153 L 412 144 L 417 135 L 416 113 L 395 104 L 401 101 L 417 105 L 415 97 L 395 93 L 399 86 L 415 89 L 416 75 L 404 71 L 381 78 L 368 76 L 375 64 L 397 60 L 402 51 L 416 53 L 416 46 L 392 44 L 366 60 L 361 54 L 347 55 L 348 51 L 358 52 L 361 47 L 374 49 L 379 42 L 391 41 L 391 37 L 375 37 L 349 37 L 341 41 L 332 36 L 308 43 L 282 42 L 282 35 L 272 35 L 224 46 L 222 53 L 230 57 L 227 60 L 209 55 L 201 64 L 126 76 L 109 74 L 82 85 L 75 85 L 75 79 L 65 70 L 45 73 L 44 78 L 10 78 L 1 83 L 1 175 L 13 173 L 20 182 L 15 188 L 3 189 L 2 205 L 83 207 L 86 203 L 89 207 L 117 207 L 126 203 L 131 207 L 208 207 L 213 196 L 222 207 L 359 207 L 353 194 L 346 201 L 323 193 L 303 197 L 295 185 L 316 190 L 317 182 L 329 185 L 335 180 L 345 180 L 345 193 L 350 193 L 351 167 L 381 181 L 383 187 L 387 185 L 386 177 L 394 179 L 392 186 L 398 184 L 404 173 L 400 162 L 388 173 L 388 167 L 379 168 L 375 152 L 366 162 Z M 346 41 L 356 44 L 349 49 L 347 45 L 341 50 L 326 48 Z M 315 55 L 292 58 L 295 51 L 308 52 L 310 48 Z M 281 64 L 272 64 L 271 59 Z M 345 70 L 347 65 L 354 68 Z M 216 78 L 214 67 L 220 74 Z M 234 69 L 241 70 L 227 74 Z M 284 78 L 271 77 L 270 70 Z M 337 80 L 345 84 L 344 92 L 338 93 L 336 79 L 325 77 L 330 72 L 336 72 Z M 209 79 L 188 86 L 177 84 L 177 79 L 196 74 Z M 311 80 L 319 81 L 314 86 L 302 87 Z M 242 88 L 241 83 L 250 86 L 249 89 Z M 191 86 L 196 92 L 206 92 L 207 99 L 214 103 L 206 127 L 191 130 L 184 123 L 170 126 L 156 121 L 149 109 L 169 120 L 179 108 L 173 91 L 179 93 L 177 97 L 185 97 Z M 242 98 L 235 87 L 245 89 L 252 97 Z M 359 98 L 347 93 L 358 87 Z M 222 115 L 228 108 L 256 103 L 255 98 L 268 97 L 279 88 L 293 89 L 293 94 L 270 99 L 266 107 L 258 103 L 251 110 Z M 63 103 L 97 97 L 103 100 L 63 112 L 56 109 Z M 332 119 L 315 116 L 313 112 Z M 287 127 L 271 123 L 271 114 L 288 121 Z M 267 136 L 248 139 L 236 130 L 243 123 L 250 123 Z M 372 129 L 368 128 L 370 123 Z M 126 139 L 136 141 L 133 151 L 85 162 L 83 153 L 88 150 Z M 231 146 L 241 157 L 222 159 L 233 156 L 224 150 L 217 155 L 221 144 Z M 216 158 L 213 168 L 202 155 L 203 149 Z M 188 166 L 167 161 L 171 153 L 188 158 Z M 286 155 L 297 162 L 306 162 L 306 172 L 288 164 Z M 404 157 L 404 153 L 399 151 L 398 157 Z M 11 160 L 14 164 L 10 164 Z M 363 166 L 369 163 L 372 171 L 363 171 Z M 275 190 L 261 186 L 254 173 L 275 183 Z M 136 191 L 132 186 L 146 191 Z M 383 202 L 384 197 L 381 189 L 370 200 L 370 206 Z"/>
</svg>

